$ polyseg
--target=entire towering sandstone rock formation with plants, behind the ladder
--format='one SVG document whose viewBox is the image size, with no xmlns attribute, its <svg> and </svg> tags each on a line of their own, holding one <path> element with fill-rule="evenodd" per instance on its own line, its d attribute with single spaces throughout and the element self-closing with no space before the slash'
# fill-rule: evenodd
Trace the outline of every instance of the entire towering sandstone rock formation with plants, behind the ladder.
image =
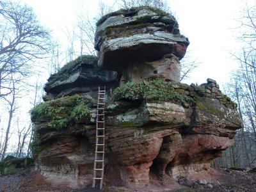
<svg viewBox="0 0 256 192">
<path fill-rule="evenodd" d="M 188 45 L 175 18 L 152 8 L 99 20 L 101 68 L 91 56 L 68 63 L 49 78 L 45 102 L 31 111 L 38 170 L 51 182 L 91 186 L 93 97 L 97 86 L 107 86 L 105 186 L 145 189 L 152 178 L 168 182 L 213 172 L 212 159 L 233 145 L 241 118 L 213 79 L 179 83 Z"/>
</svg>

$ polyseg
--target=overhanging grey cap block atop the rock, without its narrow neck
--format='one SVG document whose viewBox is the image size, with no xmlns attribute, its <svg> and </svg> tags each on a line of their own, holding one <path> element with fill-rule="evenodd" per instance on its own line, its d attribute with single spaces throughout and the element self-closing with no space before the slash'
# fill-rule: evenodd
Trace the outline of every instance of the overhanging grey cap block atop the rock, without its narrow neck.
<svg viewBox="0 0 256 192">
<path fill-rule="evenodd" d="M 147 7 L 132 14 L 114 12 L 99 23 L 95 34 L 98 65 L 121 72 L 136 60 L 156 61 L 165 54 L 181 60 L 188 45 L 175 17 Z"/>
</svg>

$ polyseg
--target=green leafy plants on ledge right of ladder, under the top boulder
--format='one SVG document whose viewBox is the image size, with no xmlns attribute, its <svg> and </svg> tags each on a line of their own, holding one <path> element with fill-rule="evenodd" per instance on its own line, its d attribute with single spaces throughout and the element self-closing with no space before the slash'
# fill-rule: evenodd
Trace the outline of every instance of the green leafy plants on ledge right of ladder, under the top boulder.
<svg viewBox="0 0 256 192">
<path fill-rule="evenodd" d="M 175 92 L 173 84 L 164 79 L 146 79 L 145 83 L 129 82 L 116 88 L 111 101 L 116 100 L 172 101 L 182 104 L 188 100 L 188 97 Z"/>
</svg>

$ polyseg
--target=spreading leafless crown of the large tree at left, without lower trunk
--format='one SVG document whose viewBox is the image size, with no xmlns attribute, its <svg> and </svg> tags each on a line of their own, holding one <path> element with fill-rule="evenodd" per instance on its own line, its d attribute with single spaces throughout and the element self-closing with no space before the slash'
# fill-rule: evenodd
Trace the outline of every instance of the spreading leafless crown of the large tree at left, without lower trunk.
<svg viewBox="0 0 256 192">
<path fill-rule="evenodd" d="M 0 99 L 12 93 L 11 74 L 28 76 L 28 61 L 44 57 L 49 33 L 36 20 L 33 10 L 12 1 L 0 1 Z"/>
</svg>

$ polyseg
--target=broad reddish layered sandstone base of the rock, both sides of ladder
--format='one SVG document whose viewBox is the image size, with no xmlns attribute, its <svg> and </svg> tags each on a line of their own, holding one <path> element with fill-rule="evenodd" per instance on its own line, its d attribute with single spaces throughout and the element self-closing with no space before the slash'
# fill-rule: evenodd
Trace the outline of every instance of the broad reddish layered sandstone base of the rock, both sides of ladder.
<svg viewBox="0 0 256 192">
<path fill-rule="evenodd" d="M 150 83 L 157 84 L 150 80 L 135 87 L 141 92 Z M 178 180 L 211 172 L 211 160 L 233 145 L 241 119 L 236 104 L 221 93 L 218 84 L 208 79 L 200 86 L 166 86 L 173 86 L 174 97 L 160 102 L 140 95 L 131 99 L 129 93 L 120 96 L 116 90 L 113 93 L 106 109 L 106 186 L 144 188 L 152 173 Z M 58 104 L 54 108 L 58 109 Z M 72 127 L 59 130 L 51 127 L 51 119 L 33 118 L 35 146 L 39 148 L 36 163 L 52 182 L 74 188 L 92 184 L 93 106 L 91 110 L 90 118 L 83 117 Z"/>
</svg>

